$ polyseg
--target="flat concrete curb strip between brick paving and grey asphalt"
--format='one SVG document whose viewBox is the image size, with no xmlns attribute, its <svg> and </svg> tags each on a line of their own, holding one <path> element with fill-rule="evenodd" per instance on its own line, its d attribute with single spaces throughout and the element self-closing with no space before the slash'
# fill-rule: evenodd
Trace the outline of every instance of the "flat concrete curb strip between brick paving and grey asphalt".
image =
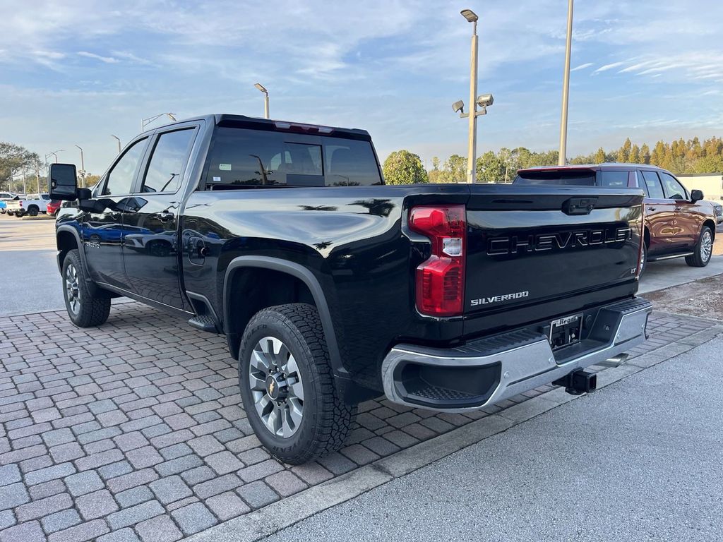
<svg viewBox="0 0 723 542">
<path fill-rule="evenodd" d="M 633 358 L 627 364 L 599 372 L 597 387 L 601 389 L 654 365 L 688 352 L 718 335 L 723 335 L 723 325 L 718 324 L 670 345 Z M 313 486 L 282 501 L 249 512 L 247 515 L 216 525 L 189 538 L 189 542 L 254 542 L 272 535 L 296 522 L 316 515 L 354 497 L 371 491 L 394 478 L 405 476 L 419 468 L 434 463 L 461 449 L 507 431 L 524 421 L 535 418 L 548 410 L 578 399 L 568 395 L 562 388 L 555 388 L 523 403 L 518 403 L 497 414 L 471 421 L 448 433 L 436 436 L 388 457 L 352 470 L 318 486 Z"/>
</svg>

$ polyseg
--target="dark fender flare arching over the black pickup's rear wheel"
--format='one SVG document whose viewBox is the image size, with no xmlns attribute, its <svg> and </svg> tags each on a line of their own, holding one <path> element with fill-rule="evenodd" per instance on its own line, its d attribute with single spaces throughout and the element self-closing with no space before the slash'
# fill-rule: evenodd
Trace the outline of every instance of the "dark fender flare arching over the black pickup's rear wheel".
<svg viewBox="0 0 723 542">
<path fill-rule="evenodd" d="M 228 335 L 231 330 L 228 330 L 228 322 L 231 321 L 231 304 L 229 303 L 230 292 L 228 290 L 229 284 L 234 277 L 234 272 L 243 267 L 258 267 L 262 269 L 269 269 L 278 272 L 287 273 L 301 280 L 302 283 L 307 285 L 309 292 L 311 292 L 314 302 L 319 311 L 319 317 L 324 328 L 324 335 L 326 339 L 326 345 L 329 350 L 329 358 L 333 369 L 335 378 L 348 379 L 349 374 L 346 368 L 341 362 L 341 353 L 337 341 L 337 336 L 334 329 L 333 320 L 331 318 L 331 312 L 329 305 L 326 301 L 325 293 L 316 278 L 307 267 L 296 262 L 289 262 L 286 259 L 273 258 L 267 256 L 239 256 L 229 262 L 226 267 L 226 273 L 223 278 L 223 327 L 224 332 Z"/>
</svg>

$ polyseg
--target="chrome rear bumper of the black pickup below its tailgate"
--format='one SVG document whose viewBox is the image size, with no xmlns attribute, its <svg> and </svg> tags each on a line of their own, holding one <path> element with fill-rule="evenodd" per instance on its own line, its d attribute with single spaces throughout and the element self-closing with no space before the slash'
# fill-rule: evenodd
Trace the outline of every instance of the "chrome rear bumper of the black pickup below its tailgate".
<svg viewBox="0 0 723 542">
<path fill-rule="evenodd" d="M 542 332 L 515 330 L 458 348 L 400 344 L 382 362 L 390 401 L 451 412 L 477 410 L 617 356 L 646 340 L 652 305 L 604 306 L 585 339 L 553 352 Z"/>
</svg>

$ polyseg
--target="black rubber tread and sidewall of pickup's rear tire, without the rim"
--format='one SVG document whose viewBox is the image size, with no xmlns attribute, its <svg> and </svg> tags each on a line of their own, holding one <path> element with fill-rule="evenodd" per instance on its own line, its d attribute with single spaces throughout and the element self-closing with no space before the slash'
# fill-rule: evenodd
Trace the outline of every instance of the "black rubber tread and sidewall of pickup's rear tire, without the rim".
<svg viewBox="0 0 723 542">
<path fill-rule="evenodd" d="M 252 391 L 249 382 L 254 348 L 267 337 L 280 340 L 288 349 L 303 386 L 301 421 L 291 436 L 279 436 L 268 427 L 257 410 L 258 397 L 268 392 Z M 239 387 L 258 439 L 271 454 L 292 465 L 307 463 L 341 448 L 356 416 L 356 405 L 344 403 L 335 388 L 319 313 L 309 304 L 272 306 L 252 317 L 241 337 Z"/>
</svg>

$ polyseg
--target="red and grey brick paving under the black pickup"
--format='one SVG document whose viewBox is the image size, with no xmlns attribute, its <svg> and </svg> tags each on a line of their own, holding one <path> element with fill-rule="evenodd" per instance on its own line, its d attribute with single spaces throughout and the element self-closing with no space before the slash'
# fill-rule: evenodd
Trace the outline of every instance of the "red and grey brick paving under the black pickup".
<svg viewBox="0 0 723 542">
<path fill-rule="evenodd" d="M 631 354 L 713 325 L 654 313 Z M 253 435 L 223 337 L 137 303 L 89 330 L 0 317 L 0 542 L 178 540 L 551 388 L 467 414 L 367 401 L 346 447 L 292 467 Z"/>
</svg>

